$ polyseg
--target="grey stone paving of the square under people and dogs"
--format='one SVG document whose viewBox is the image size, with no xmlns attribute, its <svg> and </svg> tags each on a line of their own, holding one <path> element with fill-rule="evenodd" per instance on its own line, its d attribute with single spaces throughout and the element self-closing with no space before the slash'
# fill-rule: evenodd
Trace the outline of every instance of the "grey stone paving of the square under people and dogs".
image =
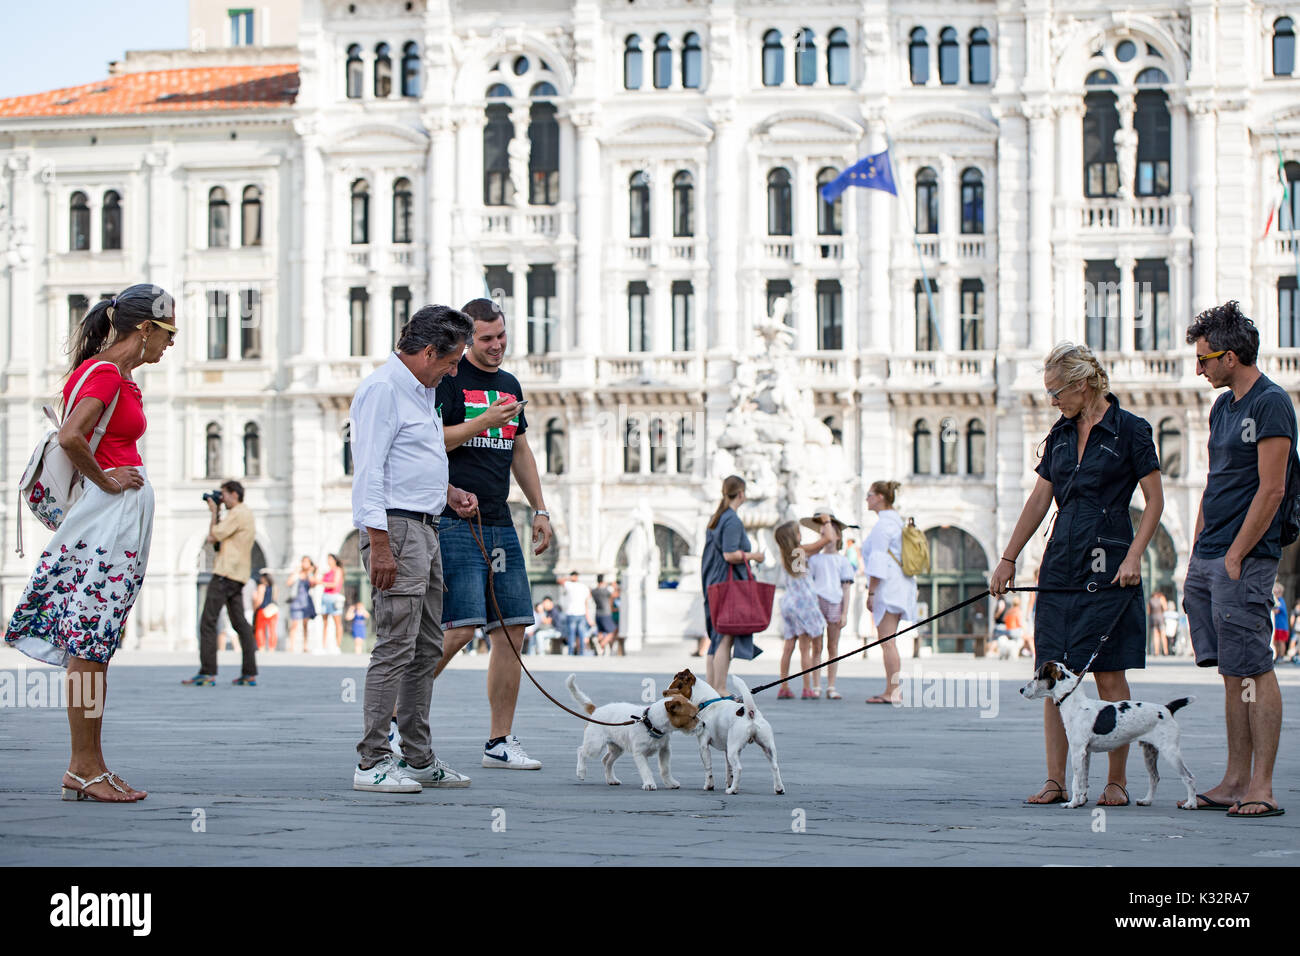
<svg viewBox="0 0 1300 956">
<path fill-rule="evenodd" d="M 736 667 L 749 684 L 775 676 L 775 644 Z M 434 743 L 468 773 L 468 790 L 394 796 L 351 790 L 360 702 L 343 702 L 364 658 L 266 656 L 261 683 L 237 688 L 237 656 L 222 654 L 221 683 L 182 687 L 182 654 L 124 654 L 110 669 L 104 726 L 110 766 L 150 797 L 134 806 L 58 800 L 68 728 L 61 710 L 0 710 L 0 864 L 47 866 L 283 865 L 1295 865 L 1300 862 L 1300 669 L 1279 670 L 1284 721 L 1275 795 L 1287 816 L 1227 821 L 1175 809 L 1182 786 L 1161 763 L 1156 805 L 1112 809 L 1095 832 L 1091 809 L 1030 808 L 1044 777 L 1041 710 L 1019 697 L 1027 661 L 946 656 L 905 662 L 920 674 L 997 676 L 997 714 L 978 708 L 866 706 L 881 684 L 879 657 L 850 661 L 842 701 L 758 697 L 771 721 L 786 793 L 771 792 L 757 747 L 744 753 L 741 792 L 703 792 L 694 741 L 675 736 L 682 790 L 644 792 L 632 761 L 603 783 L 598 763 L 573 774 L 582 726 L 526 684 L 515 730 L 543 762 L 537 773 L 478 766 L 486 735 L 485 657 L 462 657 L 434 691 Z M 317 663 L 320 662 L 320 663 Z M 0 650 L 0 671 L 23 658 Z M 598 704 L 638 701 L 642 680 L 667 685 L 698 658 L 659 649 L 637 658 L 530 658 L 538 679 L 568 701 L 564 676 Z M 35 674 L 42 669 L 30 669 Z M 702 666 L 698 669 L 702 671 Z M 924 678 L 922 678 L 924 679 Z M 1222 774 L 1222 684 L 1186 661 L 1156 661 L 1131 675 L 1139 700 L 1199 700 L 1179 713 L 1183 753 L 1197 790 Z M 1091 683 L 1089 695 L 1095 696 Z M 987 708 L 989 711 L 992 706 Z M 715 756 L 715 771 L 722 754 Z M 1089 803 L 1104 782 L 1093 760 Z M 1130 757 L 1130 792 L 1145 792 Z M 196 814 L 202 810 L 202 814 Z M 802 813 L 801 813 L 802 812 Z M 198 818 L 205 831 L 195 832 Z M 805 827 L 796 832 L 802 817 Z M 498 829 L 493 829 L 494 821 Z M 504 826 L 504 830 L 500 827 Z M 666 851 L 671 848 L 671 855 Z"/>
</svg>

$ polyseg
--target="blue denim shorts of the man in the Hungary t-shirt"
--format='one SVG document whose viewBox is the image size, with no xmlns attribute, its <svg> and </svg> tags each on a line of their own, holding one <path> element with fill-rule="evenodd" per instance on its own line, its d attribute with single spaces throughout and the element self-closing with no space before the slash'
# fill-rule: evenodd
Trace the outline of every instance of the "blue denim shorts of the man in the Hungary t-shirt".
<svg viewBox="0 0 1300 956">
<path fill-rule="evenodd" d="M 528 568 L 524 566 L 524 551 L 519 548 L 515 528 L 485 524 L 482 537 L 493 562 L 493 589 L 506 624 L 530 626 L 533 594 L 528 587 Z M 488 632 L 500 627 L 497 610 L 488 598 L 488 566 L 471 533 L 471 523 L 459 518 L 439 518 L 438 542 L 442 546 L 446 587 L 442 627 L 482 627 Z"/>
</svg>

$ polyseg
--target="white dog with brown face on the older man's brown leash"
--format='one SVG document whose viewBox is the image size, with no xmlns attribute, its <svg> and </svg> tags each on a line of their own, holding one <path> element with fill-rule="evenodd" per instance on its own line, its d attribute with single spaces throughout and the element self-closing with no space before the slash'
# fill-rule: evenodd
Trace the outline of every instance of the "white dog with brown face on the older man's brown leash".
<svg viewBox="0 0 1300 956">
<path fill-rule="evenodd" d="M 577 748 L 577 779 L 586 779 L 586 761 L 595 757 L 602 750 L 601 763 L 604 765 L 604 782 L 611 787 L 618 787 L 623 780 L 614 775 L 614 761 L 623 756 L 624 750 L 632 754 L 637 770 L 641 774 L 641 790 L 655 790 L 654 779 L 650 777 L 649 757 L 659 757 L 659 777 L 663 786 L 670 790 L 679 790 L 681 784 L 672 778 L 672 769 L 668 761 L 668 736 L 677 730 L 682 734 L 694 734 L 698 730 L 698 708 L 686 700 L 685 696 L 670 697 L 655 701 L 650 706 L 640 704 L 606 704 L 595 706 L 592 698 L 577 688 L 577 678 L 568 675 L 564 682 L 573 700 L 594 717 L 597 721 L 616 723 L 630 717 L 640 718 L 636 723 L 621 727 L 603 727 L 598 723 L 586 724 L 582 735 L 582 745 Z"/>
</svg>

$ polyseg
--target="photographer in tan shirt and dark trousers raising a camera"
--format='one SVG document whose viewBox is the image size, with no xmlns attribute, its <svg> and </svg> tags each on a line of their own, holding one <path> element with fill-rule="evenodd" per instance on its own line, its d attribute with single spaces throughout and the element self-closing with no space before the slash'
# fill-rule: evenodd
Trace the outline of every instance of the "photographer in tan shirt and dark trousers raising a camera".
<svg viewBox="0 0 1300 956">
<path fill-rule="evenodd" d="M 225 605 L 243 650 L 243 667 L 233 683 L 252 687 L 257 683 L 256 644 L 252 626 L 243 613 L 243 587 L 252 571 L 252 511 L 243 503 L 243 485 L 238 481 L 224 483 L 220 492 L 209 492 L 203 499 L 212 511 L 208 544 L 217 549 L 217 561 L 212 568 L 212 580 L 208 581 L 208 596 L 203 602 L 203 618 L 199 622 L 199 672 L 181 683 L 196 687 L 211 687 L 216 683 L 217 615 Z M 218 520 L 221 505 L 225 505 L 226 514 Z"/>
</svg>

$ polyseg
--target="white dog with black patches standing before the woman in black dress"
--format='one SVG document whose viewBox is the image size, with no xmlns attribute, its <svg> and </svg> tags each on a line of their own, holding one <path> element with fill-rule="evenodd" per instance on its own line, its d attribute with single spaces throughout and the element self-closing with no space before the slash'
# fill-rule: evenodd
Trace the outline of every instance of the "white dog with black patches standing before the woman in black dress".
<svg viewBox="0 0 1300 956">
<path fill-rule="evenodd" d="M 1074 796 L 1062 806 L 1082 806 L 1088 799 L 1089 754 L 1105 753 L 1138 741 L 1141 744 L 1141 756 L 1150 775 L 1150 788 L 1138 805 L 1150 806 L 1156 796 L 1156 784 L 1160 782 L 1156 762 L 1164 752 L 1187 784 L 1187 803 L 1179 806 L 1184 810 L 1195 809 L 1196 779 L 1183 762 L 1183 754 L 1178 748 L 1179 731 L 1174 711 L 1196 698 L 1179 697 L 1165 705 L 1127 700 L 1097 701 L 1087 697 L 1082 689 L 1076 689 L 1079 680 L 1080 678 L 1065 665 L 1048 661 L 1039 667 L 1034 680 L 1020 688 L 1020 693 L 1028 700 L 1050 697 L 1061 708 L 1061 722 L 1070 741 L 1070 766 L 1074 771 L 1074 780 L 1070 784 Z"/>
</svg>

